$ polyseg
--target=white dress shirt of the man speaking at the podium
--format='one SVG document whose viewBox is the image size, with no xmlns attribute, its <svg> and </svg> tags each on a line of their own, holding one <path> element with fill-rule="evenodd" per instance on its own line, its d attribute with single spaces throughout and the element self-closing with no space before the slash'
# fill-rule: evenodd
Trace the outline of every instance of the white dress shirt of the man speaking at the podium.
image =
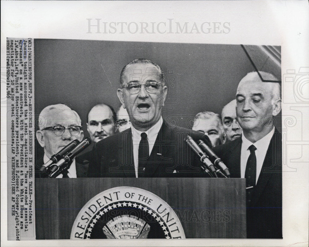
<svg viewBox="0 0 309 247">
<path fill-rule="evenodd" d="M 157 139 L 159 130 L 161 129 L 162 123 L 163 123 L 163 119 L 162 117 L 160 117 L 159 121 L 147 131 L 139 131 L 131 125 L 135 177 L 138 177 L 138 147 L 139 147 L 139 142 L 142 139 L 141 134 L 143 132 L 147 134 L 147 139 L 148 139 L 148 144 L 149 144 L 149 156 L 150 156 L 152 148 L 155 145 L 155 140 Z"/>
</svg>

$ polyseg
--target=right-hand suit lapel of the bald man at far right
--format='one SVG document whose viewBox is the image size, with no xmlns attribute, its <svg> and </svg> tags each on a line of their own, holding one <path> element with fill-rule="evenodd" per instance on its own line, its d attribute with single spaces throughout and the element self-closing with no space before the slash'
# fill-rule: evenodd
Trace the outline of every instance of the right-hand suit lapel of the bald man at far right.
<svg viewBox="0 0 309 247">
<path fill-rule="evenodd" d="M 257 180 L 256 188 L 252 195 L 251 207 L 254 206 L 259 200 L 259 197 L 265 189 L 269 179 L 271 179 L 273 173 L 281 172 L 280 170 L 276 171 L 276 167 L 281 167 L 281 154 L 278 154 L 280 153 L 278 150 L 281 150 L 281 134 L 275 130 L 275 133 L 269 142 L 262 169 Z"/>
</svg>

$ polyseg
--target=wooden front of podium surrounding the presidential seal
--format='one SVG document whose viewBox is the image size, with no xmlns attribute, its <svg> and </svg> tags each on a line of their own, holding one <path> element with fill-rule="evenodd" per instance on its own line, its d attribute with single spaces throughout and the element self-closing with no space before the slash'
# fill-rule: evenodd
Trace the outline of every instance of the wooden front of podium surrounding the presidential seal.
<svg viewBox="0 0 309 247">
<path fill-rule="evenodd" d="M 167 202 L 186 238 L 246 238 L 245 179 L 35 179 L 36 239 L 70 239 L 79 211 L 102 191 L 129 186 Z"/>
</svg>

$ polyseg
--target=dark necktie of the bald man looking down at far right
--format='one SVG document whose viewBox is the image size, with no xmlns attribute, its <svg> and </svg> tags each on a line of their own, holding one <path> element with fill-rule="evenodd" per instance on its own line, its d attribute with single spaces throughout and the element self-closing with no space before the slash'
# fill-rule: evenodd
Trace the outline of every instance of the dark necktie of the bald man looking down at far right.
<svg viewBox="0 0 309 247">
<path fill-rule="evenodd" d="M 246 165 L 245 178 L 246 178 L 246 194 L 247 194 L 247 205 L 251 202 L 252 191 L 256 181 L 256 156 L 254 145 L 249 146 L 250 155 Z"/>
</svg>

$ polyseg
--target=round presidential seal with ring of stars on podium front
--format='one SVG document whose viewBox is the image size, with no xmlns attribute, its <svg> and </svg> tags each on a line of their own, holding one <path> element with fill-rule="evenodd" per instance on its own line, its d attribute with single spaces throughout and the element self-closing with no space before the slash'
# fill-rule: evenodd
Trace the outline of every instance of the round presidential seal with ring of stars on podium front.
<svg viewBox="0 0 309 247">
<path fill-rule="evenodd" d="M 71 239 L 185 238 L 174 210 L 137 187 L 114 187 L 93 197 L 78 213 Z"/>
</svg>

